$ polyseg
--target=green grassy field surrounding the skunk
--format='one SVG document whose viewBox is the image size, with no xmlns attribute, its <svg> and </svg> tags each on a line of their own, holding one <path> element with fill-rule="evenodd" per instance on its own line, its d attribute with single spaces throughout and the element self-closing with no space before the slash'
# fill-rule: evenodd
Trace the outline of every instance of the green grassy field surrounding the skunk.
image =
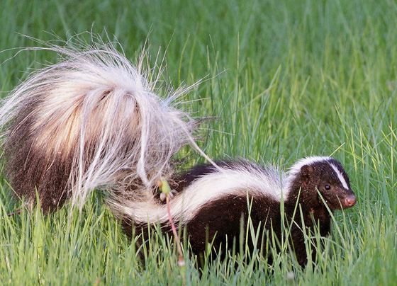
<svg viewBox="0 0 397 286">
<path fill-rule="evenodd" d="M 201 130 L 209 156 L 288 168 L 302 156 L 332 154 L 358 202 L 335 213 L 315 265 L 301 269 L 280 253 L 270 266 L 254 253 L 250 261 L 215 261 L 200 276 L 189 259 L 184 271 L 177 267 L 160 235 L 142 261 L 100 194 L 81 214 L 69 215 L 67 205 L 48 216 L 9 217 L 21 203 L 2 178 L 0 284 L 397 285 L 395 1 L 79 2 L 1 0 L 2 96 L 29 69 L 57 60 L 43 51 L 13 57 L 14 48 L 38 45 L 21 34 L 67 40 L 87 30 L 105 37 L 106 29 L 133 61 L 147 40 L 152 59 L 165 55 L 163 80 L 171 86 L 205 79 L 184 106 L 216 116 Z M 186 164 L 201 160 L 182 155 Z"/>
</svg>

